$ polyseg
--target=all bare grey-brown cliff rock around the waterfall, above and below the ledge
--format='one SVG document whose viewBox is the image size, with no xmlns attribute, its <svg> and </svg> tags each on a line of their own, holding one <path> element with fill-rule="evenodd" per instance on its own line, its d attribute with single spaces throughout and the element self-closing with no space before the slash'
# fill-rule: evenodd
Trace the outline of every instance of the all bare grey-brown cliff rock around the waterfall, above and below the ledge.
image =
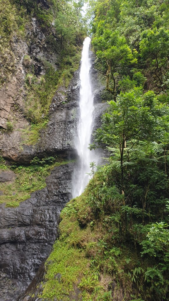
<svg viewBox="0 0 169 301">
<path fill-rule="evenodd" d="M 49 122 L 35 145 L 24 145 L 22 130 L 29 125 L 24 113 L 25 86 L 24 76 L 26 69 L 23 57 L 31 53 L 37 75 L 42 74 L 43 64 L 37 61 L 37 55 L 45 56 L 54 64 L 54 54 L 48 54 L 45 38 L 36 20 L 32 20 L 32 27 L 28 31 L 31 43 L 18 42 L 17 71 L 8 83 L 2 86 L 1 96 L 1 128 L 6 129 L 9 116 L 15 120 L 12 132 L 2 131 L 0 147 L 1 154 L 15 164 L 30 163 L 33 157 L 59 155 L 61 157 L 75 157 L 75 139 L 78 121 L 79 101 L 79 71 L 66 89 L 64 86 L 55 92 L 49 110 Z M 95 124 L 99 126 L 100 115 L 106 108 L 102 103 L 101 94 L 103 85 L 99 84 L 97 71 L 91 68 L 91 80 L 95 91 Z M 21 147 L 22 145 L 22 147 Z M 0 204 L 0 301 L 14 301 L 20 293 L 28 299 L 29 294 L 23 291 L 31 283 L 39 266 L 48 256 L 57 237 L 57 226 L 60 220 L 60 211 L 71 199 L 71 178 L 75 163 L 55 167 L 51 175 L 46 178 L 46 188 L 35 191 L 31 198 L 20 203 L 19 207 L 5 207 Z M 6 173 L 5 173 L 6 176 Z M 14 175 L 12 175 L 14 176 Z M 13 178 L 12 178 L 13 179 Z M 12 181 L 11 179 L 11 181 Z M 9 179 L 3 178 L 2 182 Z M 37 281 L 44 277 L 43 267 L 35 276 L 26 292 L 34 293 L 39 290 Z M 22 297 L 20 297 L 22 299 Z M 20 300 L 21 300 L 20 299 Z M 27 300 L 26 299 L 26 300 Z M 24 299 L 25 300 L 25 299 Z"/>
</svg>

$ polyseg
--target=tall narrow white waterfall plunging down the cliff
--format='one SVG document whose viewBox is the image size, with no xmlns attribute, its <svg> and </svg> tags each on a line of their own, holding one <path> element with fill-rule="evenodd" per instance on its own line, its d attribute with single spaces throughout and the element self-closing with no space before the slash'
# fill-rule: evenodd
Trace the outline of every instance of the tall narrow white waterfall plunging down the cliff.
<svg viewBox="0 0 169 301">
<path fill-rule="evenodd" d="M 80 116 L 78 122 L 78 138 L 76 149 L 79 156 L 79 167 L 74 171 L 72 196 L 80 195 L 88 184 L 90 176 L 90 162 L 93 161 L 93 153 L 88 149 L 91 142 L 92 121 L 93 121 L 93 95 L 89 71 L 91 68 L 89 58 L 89 47 L 91 39 L 87 37 L 83 42 L 80 69 Z"/>
</svg>

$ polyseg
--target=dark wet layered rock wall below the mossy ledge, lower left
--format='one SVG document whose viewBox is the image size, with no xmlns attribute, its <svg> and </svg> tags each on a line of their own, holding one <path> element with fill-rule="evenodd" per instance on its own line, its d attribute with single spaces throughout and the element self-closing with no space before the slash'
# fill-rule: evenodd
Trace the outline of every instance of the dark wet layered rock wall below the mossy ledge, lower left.
<svg viewBox="0 0 169 301">
<path fill-rule="evenodd" d="M 0 301 L 15 301 L 50 253 L 60 211 L 71 199 L 72 165 L 55 167 L 47 187 L 19 207 L 0 204 Z"/>
</svg>

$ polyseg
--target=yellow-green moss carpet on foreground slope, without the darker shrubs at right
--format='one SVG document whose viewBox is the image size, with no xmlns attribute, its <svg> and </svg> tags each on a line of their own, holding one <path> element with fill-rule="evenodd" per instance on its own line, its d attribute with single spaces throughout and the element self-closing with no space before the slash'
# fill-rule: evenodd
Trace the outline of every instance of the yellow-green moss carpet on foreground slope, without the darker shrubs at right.
<svg viewBox="0 0 169 301">
<path fill-rule="evenodd" d="M 80 207 L 83 209 L 81 208 L 79 213 Z M 104 300 L 101 296 L 105 291 L 106 275 L 102 275 L 102 281 L 99 281 L 90 267 L 88 252 L 90 248 L 96 253 L 97 242 L 103 238 L 104 231 L 101 231 L 100 223 L 93 228 L 88 222 L 85 228 L 81 228 L 78 217 L 86 216 L 87 212 L 90 215 L 91 212 L 86 207 L 84 195 L 82 195 L 71 200 L 62 210 L 62 221 L 59 226 L 60 239 L 54 244 L 46 264 L 46 283 L 42 298 L 74 300 L 75 287 L 79 287 L 81 293 L 78 297 L 82 296 L 84 301 Z M 88 220 L 91 218 L 92 215 L 88 217 Z M 57 273 L 61 275 L 59 280 Z"/>
</svg>

